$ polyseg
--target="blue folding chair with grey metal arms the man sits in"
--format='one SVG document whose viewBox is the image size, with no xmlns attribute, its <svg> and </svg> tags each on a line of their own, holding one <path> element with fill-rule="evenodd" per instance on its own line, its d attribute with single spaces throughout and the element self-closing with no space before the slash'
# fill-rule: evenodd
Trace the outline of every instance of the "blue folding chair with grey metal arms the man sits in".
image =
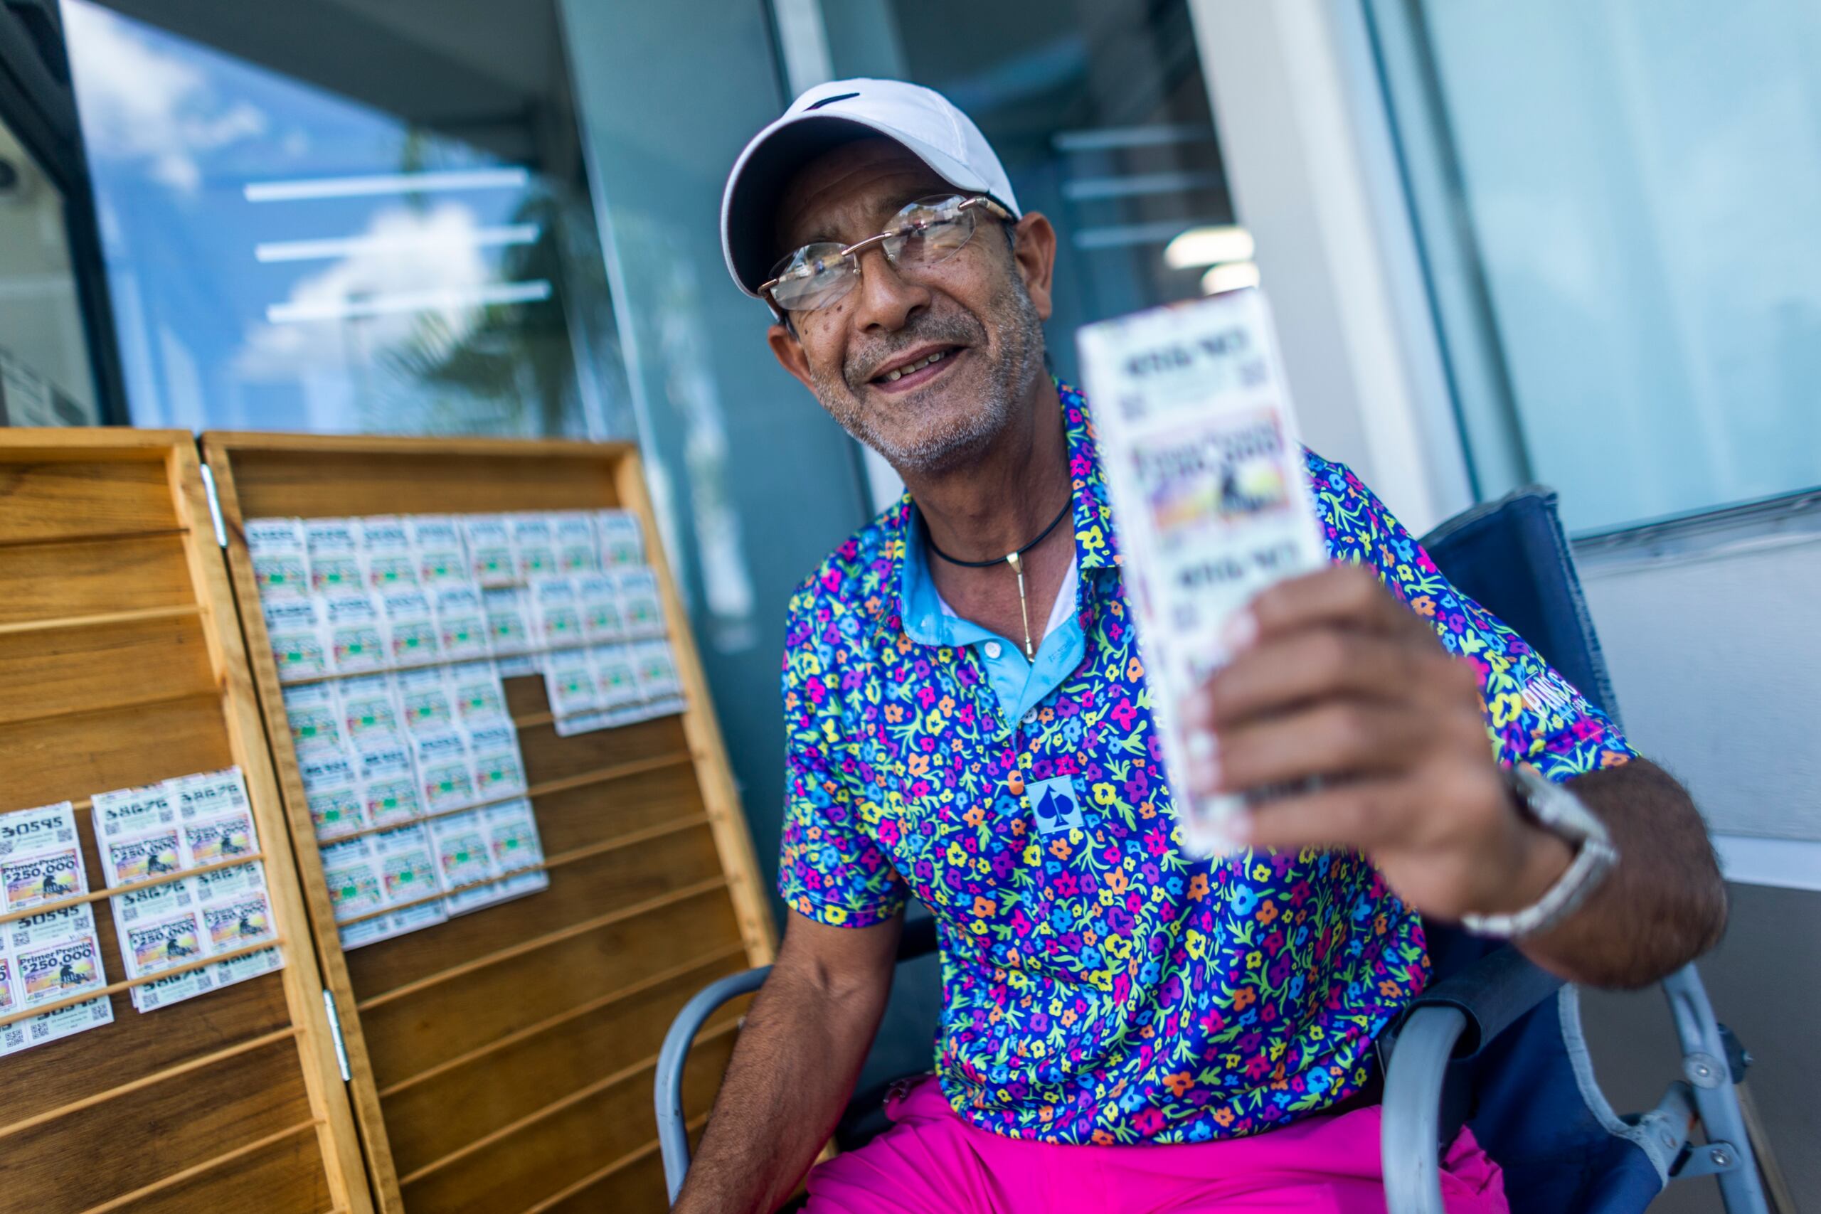
<svg viewBox="0 0 1821 1214">
<path fill-rule="evenodd" d="M 1422 546 L 1462 593 L 1515 628 L 1617 719 L 1555 493 L 1522 488 L 1475 506 Z M 1408 553 L 1409 559 L 1415 553 Z M 1446 610 L 1446 604 L 1440 604 Z M 1637 1214 L 1672 1179 L 1714 1176 L 1728 1214 L 1768 1214 L 1734 1085 L 1746 1054 L 1692 965 L 1663 983 L 1683 1079 L 1650 1112 L 1621 1118 L 1601 1096 L 1572 985 L 1497 941 L 1424 925 L 1433 983 L 1377 1041 L 1389 1214 L 1442 1214 L 1439 1156 L 1462 1125 L 1504 1168 L 1513 1214 Z M 934 919 L 905 925 L 898 959 L 936 950 Z M 683 1059 L 708 1016 L 758 990 L 767 968 L 725 977 L 677 1014 L 657 1059 L 657 1138 L 676 1201 L 688 1172 Z M 856 1096 L 836 1130 L 852 1148 L 883 1128 L 883 1085 Z M 1704 1143 L 1692 1143 L 1695 1125 Z M 1790 1212 L 1794 1214 L 1794 1212 Z"/>
</svg>

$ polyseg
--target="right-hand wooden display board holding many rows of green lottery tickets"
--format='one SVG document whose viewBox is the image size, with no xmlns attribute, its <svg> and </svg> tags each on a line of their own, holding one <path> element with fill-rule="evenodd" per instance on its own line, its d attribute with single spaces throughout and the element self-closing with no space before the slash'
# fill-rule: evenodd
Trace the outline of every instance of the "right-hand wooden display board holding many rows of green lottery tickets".
<svg viewBox="0 0 1821 1214">
<path fill-rule="evenodd" d="M 719 728 L 623 444 L 209 433 L 246 648 L 355 1119 L 382 1210 L 663 1210 L 652 1068 L 668 1021 L 772 959 Z M 242 524 L 262 517 L 632 510 L 656 568 L 681 715 L 559 737 L 544 686 L 506 681 L 550 888 L 344 954 Z M 738 1010 L 699 1037 L 708 1108 Z"/>
</svg>

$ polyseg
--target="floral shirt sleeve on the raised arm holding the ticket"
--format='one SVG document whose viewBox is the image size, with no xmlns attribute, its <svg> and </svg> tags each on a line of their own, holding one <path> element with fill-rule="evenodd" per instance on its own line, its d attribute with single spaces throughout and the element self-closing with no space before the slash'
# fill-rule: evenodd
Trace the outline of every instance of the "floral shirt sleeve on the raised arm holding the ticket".
<svg viewBox="0 0 1821 1214">
<path fill-rule="evenodd" d="M 1333 561 L 1371 566 L 1391 593 L 1429 621 L 1450 653 L 1473 663 L 1499 763 L 1528 763 L 1561 783 L 1637 757 L 1604 712 L 1442 577 L 1429 553 L 1351 470 L 1311 453 L 1309 477 Z"/>
</svg>

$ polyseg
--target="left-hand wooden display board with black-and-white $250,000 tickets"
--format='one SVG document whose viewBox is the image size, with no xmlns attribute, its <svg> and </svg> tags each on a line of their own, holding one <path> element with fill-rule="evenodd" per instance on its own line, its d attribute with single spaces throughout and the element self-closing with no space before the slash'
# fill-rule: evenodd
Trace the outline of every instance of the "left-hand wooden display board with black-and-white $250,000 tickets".
<svg viewBox="0 0 1821 1214">
<path fill-rule="evenodd" d="M 0 812 L 73 801 L 100 890 L 93 794 L 229 764 L 284 968 L 140 1014 L 91 894 L 115 1019 L 0 1057 L 0 1207 L 373 1209 L 195 440 L 0 428 Z"/>
</svg>

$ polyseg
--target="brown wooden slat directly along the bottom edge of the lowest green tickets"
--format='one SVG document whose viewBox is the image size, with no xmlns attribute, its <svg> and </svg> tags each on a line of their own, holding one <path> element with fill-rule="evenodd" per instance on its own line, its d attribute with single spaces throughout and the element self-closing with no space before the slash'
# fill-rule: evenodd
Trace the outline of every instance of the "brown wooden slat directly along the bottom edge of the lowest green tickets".
<svg viewBox="0 0 1821 1214">
<path fill-rule="evenodd" d="M 637 854 L 610 852 L 550 874 L 550 888 L 464 916 L 461 932 L 413 932 L 348 954 L 361 999 L 404 986 L 499 948 L 546 936 L 681 886 L 721 877 L 707 828 L 654 841 Z"/>
</svg>

